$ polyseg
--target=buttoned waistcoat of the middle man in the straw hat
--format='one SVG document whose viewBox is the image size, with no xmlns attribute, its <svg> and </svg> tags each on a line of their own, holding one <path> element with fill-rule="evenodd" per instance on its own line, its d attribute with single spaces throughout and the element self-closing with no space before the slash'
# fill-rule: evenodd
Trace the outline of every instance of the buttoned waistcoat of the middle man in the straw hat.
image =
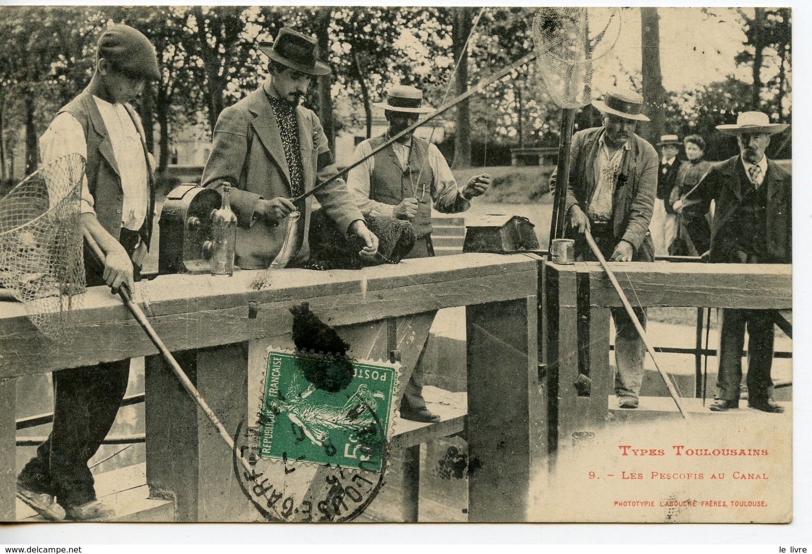
<svg viewBox="0 0 812 554">
<path fill-rule="evenodd" d="M 372 149 L 386 141 L 384 136 L 370 140 Z M 431 184 L 434 172 L 429 165 L 429 141 L 412 136 L 406 169 L 400 167 L 393 146 L 375 154 L 375 167 L 369 179 L 369 197 L 377 202 L 397 206 L 404 198 L 417 198 L 417 214 L 411 220 L 417 238 L 430 235 Z"/>
</svg>

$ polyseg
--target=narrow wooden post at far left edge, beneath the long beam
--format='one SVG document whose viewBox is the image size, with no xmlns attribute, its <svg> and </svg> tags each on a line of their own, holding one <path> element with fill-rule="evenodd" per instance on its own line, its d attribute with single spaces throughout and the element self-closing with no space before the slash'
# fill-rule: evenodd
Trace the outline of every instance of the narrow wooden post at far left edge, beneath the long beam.
<svg viewBox="0 0 812 554">
<path fill-rule="evenodd" d="M 0 522 L 17 519 L 17 379 L 0 380 Z"/>
</svg>

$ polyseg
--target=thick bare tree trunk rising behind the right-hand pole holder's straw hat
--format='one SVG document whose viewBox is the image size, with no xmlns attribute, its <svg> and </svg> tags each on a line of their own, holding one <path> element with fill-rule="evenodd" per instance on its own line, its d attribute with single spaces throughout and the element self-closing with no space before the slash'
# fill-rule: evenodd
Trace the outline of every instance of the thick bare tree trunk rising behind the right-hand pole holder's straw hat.
<svg viewBox="0 0 812 554">
<path fill-rule="evenodd" d="M 659 62 L 659 15 L 655 7 L 641 7 L 643 112 L 651 119 L 641 125 L 640 135 L 654 145 L 665 132 L 665 89 Z"/>
</svg>

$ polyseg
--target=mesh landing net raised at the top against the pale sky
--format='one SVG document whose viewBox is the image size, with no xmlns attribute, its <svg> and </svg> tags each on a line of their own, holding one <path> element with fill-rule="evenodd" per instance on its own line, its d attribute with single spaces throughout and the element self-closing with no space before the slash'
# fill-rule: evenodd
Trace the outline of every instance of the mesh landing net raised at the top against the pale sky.
<svg viewBox="0 0 812 554">
<path fill-rule="evenodd" d="M 556 106 L 592 101 L 593 63 L 620 37 L 618 8 L 540 7 L 533 18 L 538 71 Z"/>
</svg>

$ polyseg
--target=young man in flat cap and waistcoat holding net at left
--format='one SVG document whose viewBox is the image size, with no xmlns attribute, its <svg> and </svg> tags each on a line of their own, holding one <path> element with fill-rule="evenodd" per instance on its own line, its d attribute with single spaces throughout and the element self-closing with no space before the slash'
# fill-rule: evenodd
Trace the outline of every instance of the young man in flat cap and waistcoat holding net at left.
<svg viewBox="0 0 812 554">
<path fill-rule="evenodd" d="M 112 25 L 97 45 L 87 89 L 59 110 L 40 138 L 42 162 L 86 159 L 81 222 L 105 254 L 85 249 L 89 286 L 140 279 L 152 236 L 155 188 L 140 118 L 129 102 L 158 79 L 155 49 L 140 32 Z M 88 461 L 110 431 L 127 390 L 130 361 L 54 371 L 54 426 L 17 478 L 24 502 L 50 520 L 102 521 L 114 511 L 97 500 Z"/>
</svg>

